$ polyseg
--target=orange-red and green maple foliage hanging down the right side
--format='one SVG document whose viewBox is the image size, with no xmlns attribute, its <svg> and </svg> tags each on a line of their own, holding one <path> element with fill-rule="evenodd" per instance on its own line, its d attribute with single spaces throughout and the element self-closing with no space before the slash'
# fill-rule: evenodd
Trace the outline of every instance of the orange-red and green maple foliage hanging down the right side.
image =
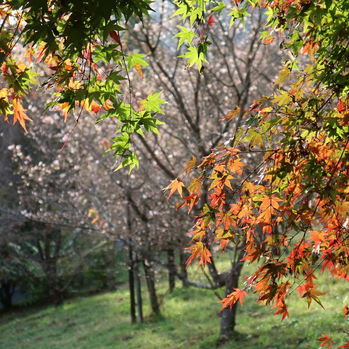
<svg viewBox="0 0 349 349">
<path fill-rule="evenodd" d="M 290 57 L 275 81 L 279 90 L 253 101 L 247 111 L 229 112 L 224 117 L 229 120 L 243 114 L 243 126 L 203 160 L 188 162 L 166 189 L 169 196 L 176 190 L 181 195 L 182 180 L 200 171 L 181 205 L 190 211 L 199 204 L 200 188 L 208 183 L 188 264 L 198 258 L 205 267 L 213 244 L 224 250 L 246 239 L 242 260 L 259 267 L 242 289 L 222 300 L 223 308 L 243 304 L 253 289 L 258 302 L 271 305 L 283 320 L 294 291 L 308 307 L 312 301 L 322 306 L 319 297 L 325 293 L 317 289 L 315 270 L 349 281 L 349 4 L 237 1 L 232 20 L 254 6 L 266 7 L 269 30 L 263 42 L 277 42 Z M 256 151 L 264 152 L 262 161 L 247 166 Z M 345 317 L 348 307 L 343 310 Z M 321 347 L 333 344 L 326 334 L 318 340 Z M 349 348 L 349 341 L 340 348 Z"/>
</svg>

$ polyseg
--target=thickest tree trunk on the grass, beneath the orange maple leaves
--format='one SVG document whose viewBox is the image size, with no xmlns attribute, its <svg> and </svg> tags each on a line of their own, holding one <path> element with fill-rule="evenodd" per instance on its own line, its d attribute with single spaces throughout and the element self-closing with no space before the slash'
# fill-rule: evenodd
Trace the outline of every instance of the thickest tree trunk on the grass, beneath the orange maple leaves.
<svg viewBox="0 0 349 349">
<path fill-rule="evenodd" d="M 235 265 L 232 266 L 229 273 L 227 274 L 227 277 L 225 280 L 226 295 L 231 294 L 235 288 L 238 288 L 240 273 L 243 265 L 244 265 L 244 262 L 241 262 L 241 261 L 236 262 Z M 230 310 L 230 306 L 227 306 L 222 310 L 221 331 L 219 336 L 220 340 L 227 340 L 234 333 L 236 306 L 237 306 L 237 303 L 235 303 L 232 306 L 231 310 Z"/>
</svg>

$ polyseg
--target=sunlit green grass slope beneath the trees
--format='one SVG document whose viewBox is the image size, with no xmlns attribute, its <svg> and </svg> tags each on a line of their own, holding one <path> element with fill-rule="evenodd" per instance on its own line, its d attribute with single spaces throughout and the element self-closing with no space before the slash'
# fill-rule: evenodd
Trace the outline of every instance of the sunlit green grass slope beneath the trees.
<svg viewBox="0 0 349 349">
<path fill-rule="evenodd" d="M 194 272 L 193 272 L 194 273 Z M 200 270 L 196 274 L 202 278 Z M 204 279 L 203 279 L 204 280 Z M 0 348 L 2 349 L 208 349 L 214 348 L 219 334 L 221 307 L 209 290 L 177 288 L 166 294 L 167 285 L 158 285 L 164 318 L 152 319 L 149 304 L 144 304 L 146 322 L 131 325 L 127 286 L 114 293 L 68 300 L 58 309 L 22 310 L 0 317 Z M 144 300 L 147 298 L 143 287 Z M 256 297 L 245 297 L 238 308 L 236 340 L 222 344 L 228 349 L 306 349 L 319 348 L 315 339 L 321 333 L 333 337 L 333 348 L 349 340 L 348 319 L 341 309 L 347 295 L 347 283 L 324 276 L 319 290 L 323 310 L 312 302 L 307 310 L 306 299 L 292 295 L 290 318 L 281 322 L 269 308 L 258 306 Z M 222 290 L 220 294 L 223 296 Z"/>
</svg>

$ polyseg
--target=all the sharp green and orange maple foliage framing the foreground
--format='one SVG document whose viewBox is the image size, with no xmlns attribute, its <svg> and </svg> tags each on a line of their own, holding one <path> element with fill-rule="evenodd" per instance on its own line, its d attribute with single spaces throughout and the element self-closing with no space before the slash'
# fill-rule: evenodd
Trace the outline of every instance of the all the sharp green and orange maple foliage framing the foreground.
<svg viewBox="0 0 349 349">
<path fill-rule="evenodd" d="M 143 77 L 147 62 L 142 53 L 124 51 L 120 32 L 132 16 L 142 21 L 150 2 L 8 0 L 1 5 L 0 111 L 5 120 L 13 115 L 25 129 L 29 118 L 22 100 L 30 84 L 52 88 L 47 108 L 58 106 L 65 117 L 69 111 L 86 109 L 105 112 L 97 122 L 113 118 L 119 134 L 110 150 L 117 159 L 124 157 L 121 167 L 138 165 L 132 134 L 144 136 L 143 128 L 158 133 L 161 122 L 154 116 L 162 113 L 159 105 L 165 101 L 159 98 L 161 92 L 138 101 L 128 73 L 134 68 Z M 201 74 L 211 45 L 204 24 L 211 25 L 211 16 L 222 15 L 228 5 L 213 0 L 173 2 L 173 16 L 184 24 L 174 33 L 178 48 L 186 47 L 179 57 L 187 59 L 186 69 L 195 66 Z M 244 17 L 253 16 L 256 6 L 265 8 L 267 30 L 261 40 L 267 45 L 277 42 L 289 58 L 275 81 L 279 90 L 251 101 L 248 110 L 237 107 L 222 115 L 241 117 L 243 125 L 203 160 L 188 162 L 167 189 L 182 196 L 184 177 L 201 171 L 183 198 L 191 210 L 208 181 L 211 193 L 196 217 L 188 262 L 198 258 L 205 266 L 213 243 L 223 250 L 228 243 L 246 243 L 243 260 L 261 266 L 224 305 L 242 303 L 244 292 L 254 288 L 259 302 L 273 304 L 275 314 L 285 318 L 286 299 L 294 290 L 309 306 L 312 300 L 321 305 L 315 269 L 349 280 L 349 4 L 236 0 L 228 8 L 230 24 L 241 20 L 245 26 Z M 51 70 L 43 82 L 35 62 Z M 122 93 L 120 81 L 125 79 L 128 86 Z M 262 161 L 247 167 L 244 159 L 257 152 L 264 154 Z M 327 335 L 320 342 L 328 348 L 332 344 Z"/>
</svg>

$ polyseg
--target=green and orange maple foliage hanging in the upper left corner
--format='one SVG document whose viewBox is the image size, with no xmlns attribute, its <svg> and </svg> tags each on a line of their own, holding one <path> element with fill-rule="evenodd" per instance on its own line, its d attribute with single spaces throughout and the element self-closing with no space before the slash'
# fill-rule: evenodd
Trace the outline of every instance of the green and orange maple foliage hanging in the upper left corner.
<svg viewBox="0 0 349 349">
<path fill-rule="evenodd" d="M 30 98 L 32 85 L 50 89 L 53 98 L 45 109 L 59 107 L 65 119 L 70 111 L 79 119 L 83 109 L 91 115 L 105 111 L 96 122 L 117 119 L 116 133 L 122 136 L 112 138 L 116 160 L 124 157 L 121 166 L 138 166 L 130 149 L 131 134 L 136 131 L 143 135 L 142 127 L 158 133 L 156 125 L 161 122 L 153 116 L 161 112 L 159 104 L 164 101 L 151 100 L 155 111 L 151 117 L 136 107 L 138 100 L 128 72 L 134 68 L 143 77 L 141 66 L 147 63 L 142 59 L 144 54 L 124 52 L 126 45 L 122 45 L 119 33 L 126 30 L 122 24 L 131 17 L 143 21 L 152 10 L 150 3 L 8 0 L 0 5 L 0 112 L 5 120 L 13 114 L 13 123 L 18 120 L 27 131 L 25 120 L 30 119 L 23 99 Z M 44 69 L 40 74 L 37 64 Z M 125 75 L 128 90 L 122 93 L 120 81 L 126 80 Z M 131 99 L 132 107 L 124 104 L 126 99 Z"/>
</svg>

